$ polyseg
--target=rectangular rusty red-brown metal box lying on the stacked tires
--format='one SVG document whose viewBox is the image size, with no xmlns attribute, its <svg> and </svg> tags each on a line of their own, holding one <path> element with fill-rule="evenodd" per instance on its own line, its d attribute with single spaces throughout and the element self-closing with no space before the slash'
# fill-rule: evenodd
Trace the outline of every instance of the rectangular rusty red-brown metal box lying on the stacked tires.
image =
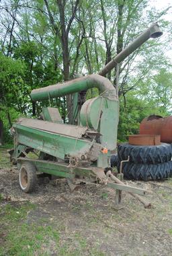
<svg viewBox="0 0 172 256">
<path fill-rule="evenodd" d="M 134 134 L 128 137 L 128 143 L 135 146 L 160 145 L 161 136 L 155 134 Z"/>
</svg>

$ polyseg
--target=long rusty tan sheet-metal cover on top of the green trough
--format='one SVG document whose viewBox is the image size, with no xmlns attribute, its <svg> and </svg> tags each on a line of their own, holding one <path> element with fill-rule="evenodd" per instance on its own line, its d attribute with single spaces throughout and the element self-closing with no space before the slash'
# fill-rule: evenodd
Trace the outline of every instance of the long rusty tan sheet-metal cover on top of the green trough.
<svg viewBox="0 0 172 256">
<path fill-rule="evenodd" d="M 32 118 L 19 118 L 16 123 L 21 124 L 22 126 L 32 127 L 38 130 L 44 130 L 64 136 L 71 136 L 74 138 L 82 138 L 87 131 L 87 127 L 74 126 L 70 124 L 55 124 L 52 122 Z"/>
</svg>

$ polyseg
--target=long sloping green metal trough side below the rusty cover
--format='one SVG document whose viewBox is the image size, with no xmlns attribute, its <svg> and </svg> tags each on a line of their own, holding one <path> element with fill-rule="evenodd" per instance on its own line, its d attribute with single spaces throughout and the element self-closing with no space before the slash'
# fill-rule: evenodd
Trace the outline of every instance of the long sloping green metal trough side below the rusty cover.
<svg viewBox="0 0 172 256">
<path fill-rule="evenodd" d="M 53 134 L 44 130 L 38 130 L 21 124 L 13 124 L 16 132 L 17 144 L 30 146 L 37 151 L 44 152 L 53 157 L 64 160 L 65 155 L 81 157 L 91 151 L 94 142 L 78 138 Z M 97 145 L 99 147 L 99 145 Z M 16 148 L 18 151 L 18 148 Z"/>
</svg>

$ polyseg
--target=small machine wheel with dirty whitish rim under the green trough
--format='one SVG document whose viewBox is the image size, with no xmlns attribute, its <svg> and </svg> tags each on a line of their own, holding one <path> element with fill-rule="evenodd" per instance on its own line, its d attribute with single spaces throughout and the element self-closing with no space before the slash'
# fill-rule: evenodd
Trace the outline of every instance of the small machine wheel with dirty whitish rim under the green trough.
<svg viewBox="0 0 172 256">
<path fill-rule="evenodd" d="M 26 193 L 34 190 L 36 185 L 36 168 L 32 163 L 23 163 L 19 169 L 19 185 Z"/>
</svg>

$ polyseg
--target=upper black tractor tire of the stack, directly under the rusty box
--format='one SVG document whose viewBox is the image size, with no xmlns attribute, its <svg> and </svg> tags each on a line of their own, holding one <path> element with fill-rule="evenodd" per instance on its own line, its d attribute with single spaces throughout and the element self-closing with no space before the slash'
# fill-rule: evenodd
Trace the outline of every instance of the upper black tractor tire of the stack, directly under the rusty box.
<svg viewBox="0 0 172 256">
<path fill-rule="evenodd" d="M 157 146 L 134 146 L 130 144 L 120 144 L 118 146 L 118 159 L 120 161 L 128 159 L 132 163 L 157 164 L 171 161 L 171 144 L 161 143 Z"/>
</svg>

